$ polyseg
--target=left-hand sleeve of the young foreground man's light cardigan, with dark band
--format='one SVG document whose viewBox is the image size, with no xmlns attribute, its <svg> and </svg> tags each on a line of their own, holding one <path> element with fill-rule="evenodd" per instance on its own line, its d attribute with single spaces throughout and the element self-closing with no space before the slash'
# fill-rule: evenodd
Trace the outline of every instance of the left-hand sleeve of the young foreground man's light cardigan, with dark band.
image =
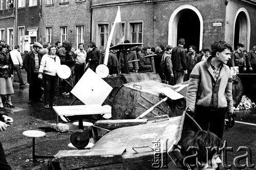
<svg viewBox="0 0 256 170">
<path fill-rule="evenodd" d="M 196 64 L 191 71 L 187 87 L 186 104 L 192 112 L 195 112 L 198 87 L 201 81 L 201 72 L 199 68 L 199 64 Z"/>
</svg>

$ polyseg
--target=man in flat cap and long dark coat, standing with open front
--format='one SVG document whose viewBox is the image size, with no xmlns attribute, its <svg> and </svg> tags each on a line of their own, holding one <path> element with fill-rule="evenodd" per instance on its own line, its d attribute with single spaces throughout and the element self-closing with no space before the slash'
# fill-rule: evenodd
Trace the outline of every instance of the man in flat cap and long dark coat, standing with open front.
<svg viewBox="0 0 256 170">
<path fill-rule="evenodd" d="M 23 66 L 27 71 L 29 83 L 29 101 L 28 104 L 41 101 L 41 80 L 38 79 L 38 70 L 42 55 L 39 53 L 42 45 L 39 42 L 34 42 L 33 49 L 28 52 L 23 60 Z"/>
</svg>

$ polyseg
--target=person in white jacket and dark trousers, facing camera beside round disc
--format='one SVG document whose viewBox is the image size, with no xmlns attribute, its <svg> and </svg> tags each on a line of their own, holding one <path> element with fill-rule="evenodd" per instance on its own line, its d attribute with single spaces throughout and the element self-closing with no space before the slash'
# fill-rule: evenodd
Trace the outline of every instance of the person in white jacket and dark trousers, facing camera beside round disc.
<svg viewBox="0 0 256 170">
<path fill-rule="evenodd" d="M 60 66 L 60 59 L 56 55 L 56 47 L 50 45 L 48 47 L 49 54 L 42 56 L 38 78 L 42 79 L 44 74 L 44 94 L 45 94 L 45 108 L 49 109 L 56 106 L 54 102 L 55 88 L 58 80 L 57 69 Z"/>
</svg>

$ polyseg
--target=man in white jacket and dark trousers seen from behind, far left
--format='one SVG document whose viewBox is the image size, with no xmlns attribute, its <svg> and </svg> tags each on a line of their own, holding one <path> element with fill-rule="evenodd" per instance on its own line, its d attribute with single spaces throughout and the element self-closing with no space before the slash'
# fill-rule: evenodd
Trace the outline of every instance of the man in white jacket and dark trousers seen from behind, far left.
<svg viewBox="0 0 256 170">
<path fill-rule="evenodd" d="M 13 69 L 17 72 L 18 75 L 18 81 L 19 81 L 19 86 L 25 85 L 22 74 L 20 73 L 20 67 L 22 67 L 22 56 L 19 53 L 19 46 L 16 45 L 14 46 L 14 50 L 10 52 L 12 62 L 13 62 Z M 14 74 L 14 73 L 13 73 Z M 13 84 L 13 78 L 12 78 L 12 84 Z"/>
</svg>

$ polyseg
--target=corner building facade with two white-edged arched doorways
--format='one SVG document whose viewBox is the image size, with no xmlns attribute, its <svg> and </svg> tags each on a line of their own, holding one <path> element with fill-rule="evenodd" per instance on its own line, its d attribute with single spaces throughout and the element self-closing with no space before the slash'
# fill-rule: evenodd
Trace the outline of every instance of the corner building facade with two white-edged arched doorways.
<svg viewBox="0 0 256 170">
<path fill-rule="evenodd" d="M 225 40 L 249 50 L 256 41 L 256 1 L 252 0 L 95 0 L 92 1 L 92 41 L 103 48 L 120 7 L 124 39 L 143 46 L 186 46 L 210 48 Z M 104 16 L 104 17 L 102 17 Z M 113 40 L 114 41 L 114 40 Z"/>
</svg>

